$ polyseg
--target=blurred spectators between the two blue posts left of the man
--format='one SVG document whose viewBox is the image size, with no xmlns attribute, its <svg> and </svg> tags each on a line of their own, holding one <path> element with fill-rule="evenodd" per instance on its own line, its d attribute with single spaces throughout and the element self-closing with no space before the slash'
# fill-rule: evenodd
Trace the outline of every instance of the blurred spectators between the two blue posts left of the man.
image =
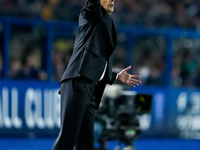
<svg viewBox="0 0 200 150">
<path fill-rule="evenodd" d="M 10 31 L 8 76 L 47 80 L 43 28 L 12 25 Z"/>
</svg>

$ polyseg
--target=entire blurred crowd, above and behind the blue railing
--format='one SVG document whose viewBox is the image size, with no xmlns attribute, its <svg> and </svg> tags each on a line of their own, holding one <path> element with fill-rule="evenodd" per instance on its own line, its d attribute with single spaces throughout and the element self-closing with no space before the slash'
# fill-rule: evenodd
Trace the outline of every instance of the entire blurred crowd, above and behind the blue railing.
<svg viewBox="0 0 200 150">
<path fill-rule="evenodd" d="M 0 0 L 0 16 L 34 18 L 45 21 L 76 21 L 85 0 Z M 112 18 L 117 25 L 200 29 L 200 0 L 116 0 Z M 52 75 L 46 71 L 46 29 L 37 26 L 11 27 L 10 69 L 13 79 L 59 81 L 72 54 L 75 34 L 54 39 Z M 0 35 L 3 36 L 3 35 Z M 126 35 L 118 35 L 114 69 L 126 67 Z M 178 43 L 178 44 L 177 44 Z M 185 44 L 189 43 L 189 44 Z M 174 42 L 173 86 L 200 86 L 200 41 Z M 1 43 L 2 44 L 2 43 Z M 190 46 L 188 46 L 190 45 Z M 134 74 L 142 85 L 166 84 L 166 39 L 162 36 L 135 40 Z M 17 52 L 17 53 L 16 53 Z M 3 51 L 0 51 L 0 78 L 3 76 Z"/>
</svg>

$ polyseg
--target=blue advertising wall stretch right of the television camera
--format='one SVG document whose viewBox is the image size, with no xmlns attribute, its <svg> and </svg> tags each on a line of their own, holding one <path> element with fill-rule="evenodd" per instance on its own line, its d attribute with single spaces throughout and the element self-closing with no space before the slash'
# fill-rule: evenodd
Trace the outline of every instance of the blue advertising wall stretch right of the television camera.
<svg viewBox="0 0 200 150">
<path fill-rule="evenodd" d="M 200 89 L 138 87 L 136 90 L 153 94 L 150 128 L 143 128 L 143 136 L 200 139 Z"/>
</svg>

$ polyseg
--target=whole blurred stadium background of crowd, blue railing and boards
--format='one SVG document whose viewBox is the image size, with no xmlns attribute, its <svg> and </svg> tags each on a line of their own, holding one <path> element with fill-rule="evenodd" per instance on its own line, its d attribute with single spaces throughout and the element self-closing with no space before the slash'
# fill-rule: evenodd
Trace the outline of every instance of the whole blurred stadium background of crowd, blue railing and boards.
<svg viewBox="0 0 200 150">
<path fill-rule="evenodd" d="M 59 80 L 85 0 L 0 0 L 0 149 L 49 150 Z M 132 65 L 153 96 L 136 150 L 200 147 L 200 0 L 116 0 L 113 68 Z M 108 143 L 113 150 L 117 141 Z"/>
</svg>

